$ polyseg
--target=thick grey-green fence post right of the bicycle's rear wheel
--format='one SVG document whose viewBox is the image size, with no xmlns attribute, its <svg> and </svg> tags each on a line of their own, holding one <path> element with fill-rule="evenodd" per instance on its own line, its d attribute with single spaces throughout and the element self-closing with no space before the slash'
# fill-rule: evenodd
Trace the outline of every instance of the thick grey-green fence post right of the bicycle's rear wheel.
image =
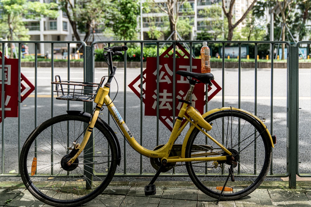
<svg viewBox="0 0 311 207">
<path fill-rule="evenodd" d="M 290 49 L 290 50 L 289 50 Z M 298 49 L 288 46 L 289 67 L 287 68 L 287 169 L 289 172 L 289 187 L 296 188 L 298 164 Z"/>
</svg>

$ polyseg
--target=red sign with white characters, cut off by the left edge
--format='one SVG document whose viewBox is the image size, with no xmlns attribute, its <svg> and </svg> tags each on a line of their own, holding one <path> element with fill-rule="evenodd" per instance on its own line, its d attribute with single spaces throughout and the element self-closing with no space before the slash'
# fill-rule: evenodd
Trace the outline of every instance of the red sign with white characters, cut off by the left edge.
<svg viewBox="0 0 311 207">
<path fill-rule="evenodd" d="M 2 52 L 0 52 L 2 56 Z M 4 56 L 4 55 L 3 55 Z M 8 59 L 4 56 L 4 118 L 18 117 L 18 59 Z M 2 103 L 2 59 L 0 59 L 0 104 Z M 26 89 L 30 87 L 27 91 Z M 21 101 L 34 91 L 35 87 L 21 74 Z M 0 116 L 2 105 L 0 105 Z M 0 117 L 0 123 L 2 117 Z"/>
</svg>

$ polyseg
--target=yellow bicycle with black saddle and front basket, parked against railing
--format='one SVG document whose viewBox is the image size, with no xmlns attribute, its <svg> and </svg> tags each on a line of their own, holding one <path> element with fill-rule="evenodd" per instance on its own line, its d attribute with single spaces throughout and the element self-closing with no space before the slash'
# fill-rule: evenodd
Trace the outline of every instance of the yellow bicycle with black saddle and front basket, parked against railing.
<svg viewBox="0 0 311 207">
<path fill-rule="evenodd" d="M 224 107 L 201 115 L 193 108 L 191 95 L 195 84 L 211 85 L 214 79 L 211 73 L 177 71 L 177 75 L 187 77 L 190 88 L 186 98 L 179 100 L 182 107 L 168 142 L 148 150 L 135 140 L 109 97 L 117 69 L 112 56 L 125 50 L 126 46 L 104 48 L 110 70 L 106 83 L 105 77 L 96 84 L 62 81 L 56 76 L 53 84 L 57 99 L 94 101 L 96 106 L 92 114 L 67 111 L 53 117 L 29 135 L 21 150 L 19 167 L 31 194 L 49 205 L 77 206 L 94 199 L 109 185 L 120 164 L 121 150 L 114 131 L 99 117 L 104 106 L 130 146 L 149 157 L 157 170 L 145 187 L 146 196 L 156 194 L 156 178 L 176 163 L 184 163 L 193 183 L 218 199 L 217 203 L 254 191 L 267 175 L 276 137 L 247 111 Z M 183 143 L 175 144 L 187 126 L 190 127 Z"/>
</svg>

